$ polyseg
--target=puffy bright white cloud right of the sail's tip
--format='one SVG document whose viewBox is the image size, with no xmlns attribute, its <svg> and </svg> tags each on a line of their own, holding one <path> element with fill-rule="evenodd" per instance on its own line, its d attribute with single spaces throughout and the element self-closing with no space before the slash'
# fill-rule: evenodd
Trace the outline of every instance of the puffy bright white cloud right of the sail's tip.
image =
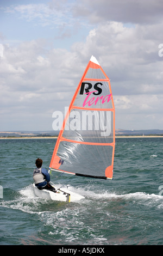
<svg viewBox="0 0 163 256">
<path fill-rule="evenodd" d="M 149 37 L 151 33 L 155 40 Z M 116 82 L 115 93 L 137 94 L 142 91 L 145 81 L 162 84 L 159 42 L 160 38 L 151 26 L 127 28 L 120 22 L 107 22 L 90 31 L 85 42 L 74 44 L 73 51 L 85 58 L 90 52 L 95 54 L 110 79 Z"/>
</svg>

